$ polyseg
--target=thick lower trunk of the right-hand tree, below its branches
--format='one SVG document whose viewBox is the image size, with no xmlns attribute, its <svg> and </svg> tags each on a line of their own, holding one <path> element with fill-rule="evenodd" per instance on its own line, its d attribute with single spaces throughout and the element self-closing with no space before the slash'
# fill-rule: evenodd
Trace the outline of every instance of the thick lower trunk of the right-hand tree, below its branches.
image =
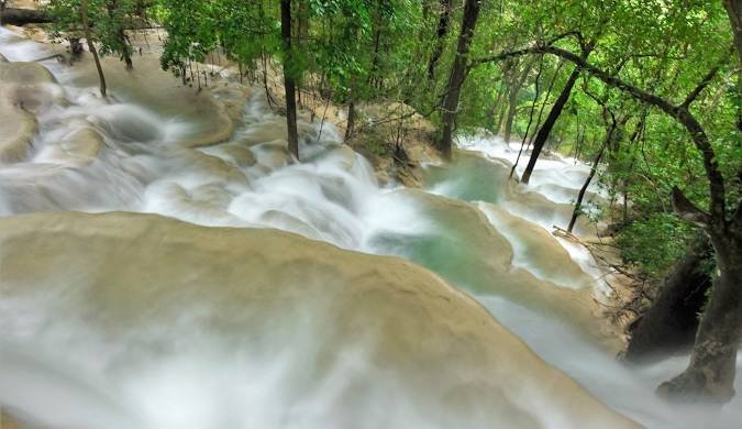
<svg viewBox="0 0 742 429">
<path fill-rule="evenodd" d="M 739 232 L 711 234 L 719 278 L 698 327 L 690 364 L 683 374 L 657 388 L 657 393 L 665 397 L 727 403 L 734 396 L 737 350 L 742 337 L 740 235 Z"/>
</svg>

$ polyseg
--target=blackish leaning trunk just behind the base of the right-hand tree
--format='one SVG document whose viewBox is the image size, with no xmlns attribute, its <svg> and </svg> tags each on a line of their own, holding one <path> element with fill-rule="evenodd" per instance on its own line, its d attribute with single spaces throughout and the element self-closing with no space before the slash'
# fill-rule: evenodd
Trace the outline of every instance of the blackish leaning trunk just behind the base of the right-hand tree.
<svg viewBox="0 0 742 429">
<path fill-rule="evenodd" d="M 693 346 L 698 314 L 711 287 L 711 276 L 704 265 L 712 257 L 711 242 L 705 234 L 688 246 L 663 282 L 652 307 L 632 323 L 631 340 L 623 355 L 627 361 L 651 361 Z"/>
</svg>

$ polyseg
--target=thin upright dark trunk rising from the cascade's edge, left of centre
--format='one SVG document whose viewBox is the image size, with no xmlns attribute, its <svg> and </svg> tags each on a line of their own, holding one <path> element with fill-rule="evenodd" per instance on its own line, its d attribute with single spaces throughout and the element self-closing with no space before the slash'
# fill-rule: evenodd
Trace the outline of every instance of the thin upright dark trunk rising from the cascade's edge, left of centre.
<svg viewBox="0 0 742 429">
<path fill-rule="evenodd" d="M 297 131 L 296 81 L 291 63 L 291 0 L 280 1 L 280 35 L 284 42 L 284 89 L 286 91 L 286 128 L 289 152 L 299 160 L 299 132 Z"/>
</svg>

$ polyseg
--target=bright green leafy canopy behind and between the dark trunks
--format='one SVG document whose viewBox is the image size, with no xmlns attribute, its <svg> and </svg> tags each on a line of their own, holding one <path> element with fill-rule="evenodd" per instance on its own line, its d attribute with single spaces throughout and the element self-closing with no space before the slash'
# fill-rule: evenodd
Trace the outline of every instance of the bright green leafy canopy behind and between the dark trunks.
<svg viewBox="0 0 742 429">
<path fill-rule="evenodd" d="M 78 2 L 52 1 L 58 30 L 79 29 Z M 278 61 L 302 89 L 325 100 L 401 101 L 436 122 L 463 9 L 453 2 L 448 32 L 440 38 L 442 4 L 440 0 L 292 0 L 290 52 L 281 50 L 276 1 L 90 0 L 90 10 L 104 54 L 123 57 L 130 52 L 121 31 L 128 20 L 147 9 L 168 34 L 162 55 L 166 69 L 185 74 L 190 63 L 204 62 L 214 51 L 242 70 L 268 74 L 267 64 Z M 486 1 L 468 59 L 546 42 L 574 53 L 589 47 L 590 64 L 677 105 L 720 65 L 690 111 L 710 136 L 729 183 L 729 210 L 733 209 L 742 170 L 742 141 L 735 128 L 741 82 L 739 64 L 728 50 L 731 31 L 720 2 Z M 428 63 L 439 45 L 443 51 L 438 72 L 429 79 Z M 532 139 L 574 68 L 546 54 L 470 68 L 456 118 L 458 132 L 502 132 L 512 111 L 513 134 Z M 619 242 L 628 263 L 639 264 L 644 273 L 662 272 L 685 249 L 691 230 L 669 215 L 671 190 L 678 187 L 697 206 L 709 205 L 701 156 L 673 118 L 586 73 L 550 135 L 549 148 L 584 160 L 595 156 L 607 128 L 606 111 L 596 99 L 620 124 L 599 170 L 610 200 L 590 212 L 605 213 L 624 228 Z"/>
</svg>

